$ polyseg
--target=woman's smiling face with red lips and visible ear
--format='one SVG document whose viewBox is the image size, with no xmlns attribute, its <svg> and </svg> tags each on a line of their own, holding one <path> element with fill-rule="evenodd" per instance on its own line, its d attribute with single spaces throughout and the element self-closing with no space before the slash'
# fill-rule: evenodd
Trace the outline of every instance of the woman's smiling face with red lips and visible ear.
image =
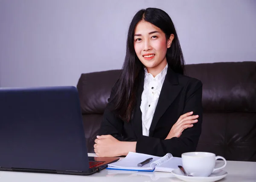
<svg viewBox="0 0 256 182">
<path fill-rule="evenodd" d="M 166 66 L 167 48 L 171 46 L 174 35 L 166 41 L 165 33 L 157 26 L 141 20 L 134 31 L 134 49 L 136 55 L 153 76 Z"/>
</svg>

